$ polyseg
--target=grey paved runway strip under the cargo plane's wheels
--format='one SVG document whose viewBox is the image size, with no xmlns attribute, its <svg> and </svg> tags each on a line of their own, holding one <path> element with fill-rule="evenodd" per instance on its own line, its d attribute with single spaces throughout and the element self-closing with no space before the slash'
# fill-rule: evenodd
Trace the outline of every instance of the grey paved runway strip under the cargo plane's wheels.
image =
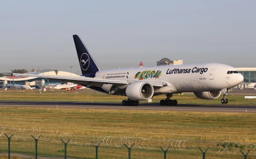
<svg viewBox="0 0 256 159">
<path fill-rule="evenodd" d="M 191 105 L 160 106 L 156 103 L 139 106 L 122 106 L 119 103 L 93 102 L 36 102 L 36 101 L 0 101 L 0 106 L 24 108 L 59 108 L 59 109 L 110 109 L 110 110 L 151 110 L 151 111 L 199 111 L 226 113 L 256 113 L 255 105 Z"/>
</svg>

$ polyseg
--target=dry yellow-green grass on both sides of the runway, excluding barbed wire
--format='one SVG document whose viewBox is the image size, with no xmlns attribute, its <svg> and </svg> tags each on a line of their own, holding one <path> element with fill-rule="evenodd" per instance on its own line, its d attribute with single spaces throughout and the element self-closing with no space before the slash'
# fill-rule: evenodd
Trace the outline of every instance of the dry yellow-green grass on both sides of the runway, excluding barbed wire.
<svg viewBox="0 0 256 159">
<path fill-rule="evenodd" d="M 154 98 L 153 102 L 159 99 Z M 220 100 L 198 100 L 193 94 L 176 95 L 181 103 L 198 104 L 209 102 L 219 104 Z M 86 91 L 34 92 L 1 91 L 1 100 L 24 101 L 79 101 L 79 102 L 120 102 L 125 97 Z M 229 96 L 230 104 L 254 104 L 243 96 Z M 256 115 L 246 113 L 202 113 L 148 110 L 94 110 L 60 108 L 12 108 L 0 107 L 0 127 L 36 128 L 60 134 L 68 132 L 77 136 L 134 136 L 150 139 L 196 139 L 256 143 Z M 39 140 L 40 141 L 40 140 Z M 34 155 L 34 140 L 11 141 L 12 153 Z M 63 157 L 64 145 L 60 141 L 39 142 L 42 156 Z M 7 153 L 7 138 L 0 137 L 0 153 Z M 163 158 L 159 150 L 132 150 L 132 158 Z M 179 151 L 170 149 L 167 158 L 201 158 L 200 151 Z M 68 157 L 95 158 L 94 147 L 68 145 Z M 99 158 L 127 158 L 126 148 L 99 148 Z M 247 158 L 255 158 L 249 156 Z M 240 154 L 208 153 L 207 158 L 242 158 Z"/>
</svg>

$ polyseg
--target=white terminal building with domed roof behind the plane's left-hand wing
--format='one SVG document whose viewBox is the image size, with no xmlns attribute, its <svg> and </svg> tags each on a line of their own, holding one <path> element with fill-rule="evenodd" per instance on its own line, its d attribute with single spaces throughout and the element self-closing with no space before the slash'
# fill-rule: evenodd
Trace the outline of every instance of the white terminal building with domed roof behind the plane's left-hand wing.
<svg viewBox="0 0 256 159">
<path fill-rule="evenodd" d="M 79 76 L 71 72 L 57 71 L 57 70 L 42 70 L 39 72 L 28 72 L 27 74 L 33 75 L 54 75 L 54 76 Z M 52 80 L 47 78 L 35 78 L 35 77 L 22 77 L 22 76 L 3 76 L 0 78 L 0 87 L 13 86 L 13 80 L 15 84 L 24 84 L 28 86 L 47 87 L 56 83 L 61 83 L 61 80 Z"/>
</svg>

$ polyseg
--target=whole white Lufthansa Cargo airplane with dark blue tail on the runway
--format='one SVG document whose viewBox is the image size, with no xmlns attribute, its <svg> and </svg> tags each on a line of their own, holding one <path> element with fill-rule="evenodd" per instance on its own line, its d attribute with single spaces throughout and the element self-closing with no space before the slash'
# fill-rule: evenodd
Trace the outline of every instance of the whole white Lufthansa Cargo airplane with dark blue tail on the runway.
<svg viewBox="0 0 256 159">
<path fill-rule="evenodd" d="M 14 74 L 78 83 L 86 88 L 112 95 L 127 96 L 122 105 L 138 106 L 139 101 L 165 94 L 160 105 L 177 105 L 171 100 L 175 93 L 193 92 L 197 98 L 214 100 L 224 91 L 222 104 L 227 104 L 226 92 L 243 81 L 243 76 L 232 66 L 221 63 L 196 63 L 137 68 L 100 70 L 81 38 L 73 35 L 81 76 L 53 76 Z M 134 57 L 132 57 L 134 58 Z M 126 60 L 126 59 L 125 59 Z"/>
</svg>

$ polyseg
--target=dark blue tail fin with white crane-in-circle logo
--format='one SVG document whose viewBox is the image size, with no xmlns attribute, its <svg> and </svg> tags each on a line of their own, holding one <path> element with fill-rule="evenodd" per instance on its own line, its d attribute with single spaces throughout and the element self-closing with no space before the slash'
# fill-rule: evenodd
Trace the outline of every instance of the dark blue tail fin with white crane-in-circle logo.
<svg viewBox="0 0 256 159">
<path fill-rule="evenodd" d="M 94 62 L 92 55 L 90 55 L 81 38 L 77 35 L 73 35 L 73 38 L 76 45 L 77 57 L 79 58 L 82 75 L 93 78 L 96 72 L 100 71 L 100 69 Z"/>
</svg>

